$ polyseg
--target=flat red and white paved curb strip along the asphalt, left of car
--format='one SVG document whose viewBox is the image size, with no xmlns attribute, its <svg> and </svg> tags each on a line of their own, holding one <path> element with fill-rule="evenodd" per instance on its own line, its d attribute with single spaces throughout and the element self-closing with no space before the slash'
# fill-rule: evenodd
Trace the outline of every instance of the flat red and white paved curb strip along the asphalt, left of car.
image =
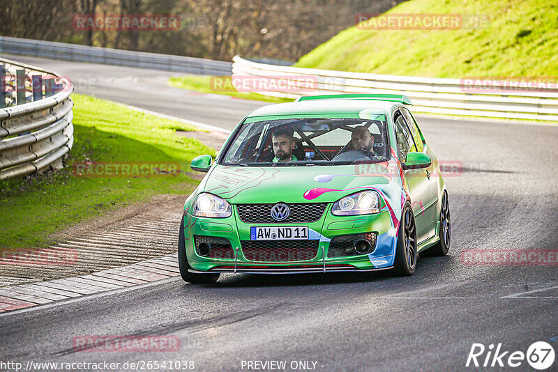
<svg viewBox="0 0 558 372">
<path fill-rule="evenodd" d="M 102 270 L 77 277 L 2 287 L 0 288 L 0 313 L 146 284 L 176 277 L 179 274 L 178 254 L 168 254 L 122 268 Z"/>
</svg>

